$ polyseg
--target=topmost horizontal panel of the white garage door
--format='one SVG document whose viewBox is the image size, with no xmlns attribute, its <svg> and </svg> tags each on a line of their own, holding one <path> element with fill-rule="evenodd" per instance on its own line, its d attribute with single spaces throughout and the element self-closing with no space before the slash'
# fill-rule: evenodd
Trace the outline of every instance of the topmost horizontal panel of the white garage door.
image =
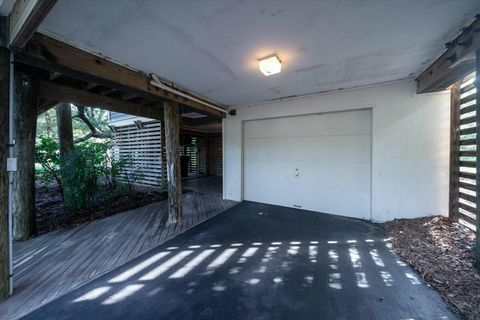
<svg viewBox="0 0 480 320">
<path fill-rule="evenodd" d="M 273 121 L 254 120 L 245 123 L 244 137 L 248 139 L 371 134 L 369 118 L 369 112 L 363 114 L 336 112 L 271 119 Z M 256 122 L 261 122 L 261 125 Z"/>
</svg>

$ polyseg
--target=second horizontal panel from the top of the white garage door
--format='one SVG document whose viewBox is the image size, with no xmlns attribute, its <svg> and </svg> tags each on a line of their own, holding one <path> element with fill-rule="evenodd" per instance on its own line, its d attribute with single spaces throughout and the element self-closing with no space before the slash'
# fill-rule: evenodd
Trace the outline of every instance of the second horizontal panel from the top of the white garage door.
<svg viewBox="0 0 480 320">
<path fill-rule="evenodd" d="M 370 148 L 370 140 L 370 135 L 245 139 L 244 159 L 370 162 L 365 152 Z"/>
</svg>

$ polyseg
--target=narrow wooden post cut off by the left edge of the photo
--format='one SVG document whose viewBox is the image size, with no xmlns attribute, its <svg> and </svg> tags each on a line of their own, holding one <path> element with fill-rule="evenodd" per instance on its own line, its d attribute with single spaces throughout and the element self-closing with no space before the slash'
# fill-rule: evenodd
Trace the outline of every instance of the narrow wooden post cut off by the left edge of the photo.
<svg viewBox="0 0 480 320">
<path fill-rule="evenodd" d="M 0 300 L 8 296 L 8 101 L 10 52 L 0 47 Z"/>
</svg>

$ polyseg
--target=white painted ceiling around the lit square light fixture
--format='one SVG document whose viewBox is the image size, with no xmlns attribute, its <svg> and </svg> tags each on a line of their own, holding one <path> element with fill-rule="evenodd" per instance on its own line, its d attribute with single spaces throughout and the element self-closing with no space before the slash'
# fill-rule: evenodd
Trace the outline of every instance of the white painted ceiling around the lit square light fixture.
<svg viewBox="0 0 480 320">
<path fill-rule="evenodd" d="M 418 75 L 479 1 L 68 1 L 41 32 L 230 106 Z M 282 72 L 257 59 L 276 53 Z"/>
</svg>

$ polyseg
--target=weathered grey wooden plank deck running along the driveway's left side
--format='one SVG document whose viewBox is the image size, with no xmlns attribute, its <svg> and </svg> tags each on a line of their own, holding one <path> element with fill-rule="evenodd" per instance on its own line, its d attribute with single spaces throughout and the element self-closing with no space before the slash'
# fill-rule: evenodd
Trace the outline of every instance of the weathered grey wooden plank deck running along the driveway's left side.
<svg viewBox="0 0 480 320">
<path fill-rule="evenodd" d="M 14 294 L 0 319 L 16 319 L 234 206 L 221 178 L 184 182 L 184 219 L 164 227 L 166 201 L 14 244 Z"/>
</svg>

